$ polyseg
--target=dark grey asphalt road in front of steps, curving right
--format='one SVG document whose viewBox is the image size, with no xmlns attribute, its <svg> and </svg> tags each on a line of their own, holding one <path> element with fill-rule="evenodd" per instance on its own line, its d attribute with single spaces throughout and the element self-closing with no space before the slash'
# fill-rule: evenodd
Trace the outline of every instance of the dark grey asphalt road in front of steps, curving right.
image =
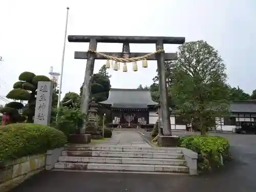
<svg viewBox="0 0 256 192">
<path fill-rule="evenodd" d="M 184 133 L 174 133 L 174 135 Z M 136 192 L 254 192 L 256 191 L 256 135 L 217 134 L 230 141 L 234 158 L 213 174 L 200 176 L 43 172 L 11 192 L 136 191 Z"/>
</svg>

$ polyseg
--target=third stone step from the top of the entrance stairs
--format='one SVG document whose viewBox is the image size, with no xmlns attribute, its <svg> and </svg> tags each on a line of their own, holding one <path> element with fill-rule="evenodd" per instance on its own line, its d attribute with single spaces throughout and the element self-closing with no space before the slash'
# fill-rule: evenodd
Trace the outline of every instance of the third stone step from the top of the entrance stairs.
<svg viewBox="0 0 256 192">
<path fill-rule="evenodd" d="M 122 157 L 76 157 L 60 156 L 59 162 L 75 163 L 110 163 L 110 164 L 150 164 L 150 165 L 186 165 L 182 159 L 154 159 L 154 158 L 122 158 Z"/>
</svg>

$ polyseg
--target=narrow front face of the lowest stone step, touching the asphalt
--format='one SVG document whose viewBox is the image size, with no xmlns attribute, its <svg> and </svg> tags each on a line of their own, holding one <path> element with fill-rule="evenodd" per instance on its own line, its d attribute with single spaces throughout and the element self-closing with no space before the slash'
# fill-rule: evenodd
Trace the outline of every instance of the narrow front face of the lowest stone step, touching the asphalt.
<svg viewBox="0 0 256 192">
<path fill-rule="evenodd" d="M 122 171 L 122 170 L 79 170 L 79 169 L 62 169 L 54 168 L 53 172 L 88 172 L 88 173 L 106 173 L 106 174 L 157 174 L 157 175 L 188 175 L 188 173 L 183 172 L 136 172 L 136 171 Z"/>
</svg>

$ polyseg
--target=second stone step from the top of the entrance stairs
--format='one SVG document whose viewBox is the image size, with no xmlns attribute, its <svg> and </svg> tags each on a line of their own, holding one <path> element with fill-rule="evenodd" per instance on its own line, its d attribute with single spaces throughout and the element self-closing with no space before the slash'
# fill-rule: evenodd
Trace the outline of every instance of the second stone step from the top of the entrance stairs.
<svg viewBox="0 0 256 192">
<path fill-rule="evenodd" d="M 156 153 L 156 152 L 119 152 L 119 151 L 62 151 L 62 156 L 84 157 L 123 157 L 123 158 L 161 158 L 183 159 L 181 153 Z"/>
</svg>

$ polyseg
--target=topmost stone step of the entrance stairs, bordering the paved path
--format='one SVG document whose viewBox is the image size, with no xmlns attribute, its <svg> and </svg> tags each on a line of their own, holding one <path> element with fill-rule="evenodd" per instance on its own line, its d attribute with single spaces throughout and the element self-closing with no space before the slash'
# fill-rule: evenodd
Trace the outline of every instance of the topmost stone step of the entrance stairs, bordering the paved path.
<svg viewBox="0 0 256 192">
<path fill-rule="evenodd" d="M 104 146 L 105 145 L 105 146 Z M 67 151 L 112 151 L 112 152 L 143 152 L 143 153 L 182 153 L 180 147 L 137 147 L 137 146 L 79 146 L 66 145 Z"/>
</svg>

